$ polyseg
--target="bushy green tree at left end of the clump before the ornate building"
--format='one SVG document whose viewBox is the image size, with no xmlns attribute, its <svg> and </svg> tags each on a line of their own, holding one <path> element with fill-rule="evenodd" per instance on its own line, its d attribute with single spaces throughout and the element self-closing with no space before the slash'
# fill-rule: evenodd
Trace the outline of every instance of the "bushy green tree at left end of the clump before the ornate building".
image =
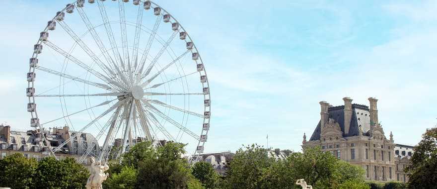
<svg viewBox="0 0 437 189">
<path fill-rule="evenodd" d="M 256 189 L 266 186 L 263 172 L 275 160 L 267 156 L 267 149 L 252 144 L 240 148 L 228 165 L 227 184 L 233 189 Z"/>
</svg>

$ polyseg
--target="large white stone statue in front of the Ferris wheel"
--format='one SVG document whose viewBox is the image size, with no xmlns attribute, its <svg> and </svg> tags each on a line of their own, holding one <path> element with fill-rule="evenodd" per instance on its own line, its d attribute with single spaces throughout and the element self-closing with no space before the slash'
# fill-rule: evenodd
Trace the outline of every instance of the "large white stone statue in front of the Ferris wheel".
<svg viewBox="0 0 437 189">
<path fill-rule="evenodd" d="M 91 175 L 86 183 L 86 189 L 102 189 L 102 183 L 108 178 L 109 166 L 106 163 L 101 163 L 100 161 L 95 162 L 94 157 L 91 157 Z"/>
</svg>

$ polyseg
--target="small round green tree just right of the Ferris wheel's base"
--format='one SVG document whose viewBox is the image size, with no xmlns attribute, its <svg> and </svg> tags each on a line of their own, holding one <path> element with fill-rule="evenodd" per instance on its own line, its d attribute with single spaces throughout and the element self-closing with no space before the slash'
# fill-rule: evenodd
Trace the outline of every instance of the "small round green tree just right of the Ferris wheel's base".
<svg viewBox="0 0 437 189">
<path fill-rule="evenodd" d="M 195 163 L 191 168 L 191 174 L 198 179 L 205 188 L 216 188 L 218 175 L 210 163 L 204 161 Z"/>
</svg>

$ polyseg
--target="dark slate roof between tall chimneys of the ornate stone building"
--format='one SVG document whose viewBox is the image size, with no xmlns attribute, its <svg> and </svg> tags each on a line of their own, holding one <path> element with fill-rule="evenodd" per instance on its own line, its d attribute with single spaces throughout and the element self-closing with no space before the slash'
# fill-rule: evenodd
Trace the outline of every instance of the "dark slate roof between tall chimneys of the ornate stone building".
<svg viewBox="0 0 437 189">
<path fill-rule="evenodd" d="M 329 118 L 334 119 L 335 122 L 339 123 L 341 131 L 345 133 L 345 113 L 344 113 L 344 105 L 334 106 L 328 108 Z M 366 135 L 367 131 L 370 129 L 369 123 L 369 113 L 368 106 L 361 104 L 352 104 L 352 117 L 351 124 L 349 126 L 349 134 L 343 134 L 343 137 L 348 136 L 358 136 L 360 125 L 363 129 L 363 134 Z M 363 114 L 363 115 L 362 115 Z M 314 132 L 311 135 L 310 141 L 320 140 L 320 121 L 317 124 Z"/>
</svg>

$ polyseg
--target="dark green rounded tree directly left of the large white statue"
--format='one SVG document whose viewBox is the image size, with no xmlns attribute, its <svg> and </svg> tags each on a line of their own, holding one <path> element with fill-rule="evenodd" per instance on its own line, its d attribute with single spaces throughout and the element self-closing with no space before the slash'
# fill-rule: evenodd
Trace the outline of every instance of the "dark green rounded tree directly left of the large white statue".
<svg viewBox="0 0 437 189">
<path fill-rule="evenodd" d="M 34 188 L 83 189 L 89 173 L 73 158 L 56 160 L 47 157 L 38 162 L 34 175 Z"/>
</svg>

